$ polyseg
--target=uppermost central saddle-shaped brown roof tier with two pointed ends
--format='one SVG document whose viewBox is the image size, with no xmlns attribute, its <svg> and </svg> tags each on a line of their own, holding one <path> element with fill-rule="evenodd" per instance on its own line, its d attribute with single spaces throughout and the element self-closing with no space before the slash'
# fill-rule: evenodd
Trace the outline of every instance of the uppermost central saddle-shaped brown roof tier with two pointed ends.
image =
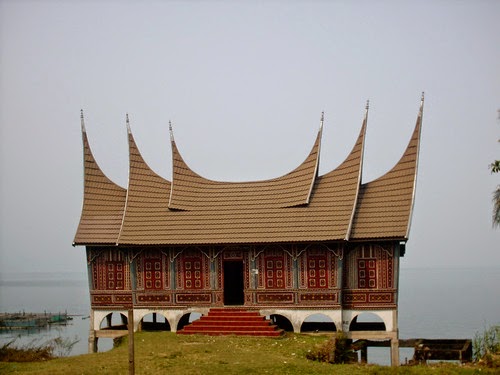
<svg viewBox="0 0 500 375">
<path fill-rule="evenodd" d="M 228 206 L 284 208 L 309 203 L 318 173 L 322 128 L 321 125 L 311 152 L 299 167 L 282 177 L 253 182 L 220 182 L 201 177 L 184 162 L 171 135 L 173 176 L 168 207 L 217 211 Z"/>
</svg>

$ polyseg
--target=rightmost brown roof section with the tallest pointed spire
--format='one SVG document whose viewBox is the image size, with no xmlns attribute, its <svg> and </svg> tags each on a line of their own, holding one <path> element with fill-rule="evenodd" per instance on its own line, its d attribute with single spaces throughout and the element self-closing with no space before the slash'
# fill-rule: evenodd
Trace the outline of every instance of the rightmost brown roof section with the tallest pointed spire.
<svg viewBox="0 0 500 375">
<path fill-rule="evenodd" d="M 407 239 L 418 167 L 424 97 L 413 135 L 399 162 L 385 175 L 361 185 L 352 239 Z"/>
</svg>

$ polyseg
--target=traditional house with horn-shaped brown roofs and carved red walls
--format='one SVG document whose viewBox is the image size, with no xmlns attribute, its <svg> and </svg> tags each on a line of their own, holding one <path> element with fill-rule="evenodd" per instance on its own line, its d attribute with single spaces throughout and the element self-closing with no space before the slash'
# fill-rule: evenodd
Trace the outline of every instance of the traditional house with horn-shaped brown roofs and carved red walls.
<svg viewBox="0 0 500 375">
<path fill-rule="evenodd" d="M 97 165 L 82 113 L 84 197 L 73 245 L 87 252 L 90 350 L 112 313 L 133 310 L 136 330 L 153 314 L 179 332 L 191 313 L 203 319 L 209 310 L 214 316 L 248 310 L 294 332 L 321 314 L 350 339 L 390 340 L 397 364 L 399 264 L 415 199 L 422 113 L 423 96 L 403 156 L 370 182 L 361 178 L 368 106 L 352 151 L 336 169 L 318 174 L 322 118 L 302 164 L 255 182 L 198 175 L 171 128 L 172 181 L 160 177 L 142 158 L 127 116 L 126 189 Z M 379 322 L 358 321 L 366 312 Z"/>
</svg>

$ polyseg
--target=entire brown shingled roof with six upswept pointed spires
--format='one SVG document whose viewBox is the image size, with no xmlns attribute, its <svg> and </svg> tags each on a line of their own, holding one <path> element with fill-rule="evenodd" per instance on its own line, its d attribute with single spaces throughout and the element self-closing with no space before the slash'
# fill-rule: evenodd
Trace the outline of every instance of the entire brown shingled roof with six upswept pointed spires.
<svg viewBox="0 0 500 375">
<path fill-rule="evenodd" d="M 182 160 L 173 137 L 171 183 L 145 163 L 128 127 L 130 171 L 125 210 L 125 190 L 102 174 L 83 132 L 85 204 L 75 244 L 182 245 L 344 241 L 370 236 L 406 238 L 420 120 L 405 156 L 387 177 L 361 185 L 366 122 L 365 115 L 346 160 L 323 176 L 317 176 L 320 128 L 310 154 L 294 171 L 271 180 L 242 183 L 211 181 L 197 175 Z M 96 174 L 107 181 L 101 183 L 102 189 L 91 186 Z M 89 203 L 94 201 L 97 204 L 90 211 Z"/>
</svg>

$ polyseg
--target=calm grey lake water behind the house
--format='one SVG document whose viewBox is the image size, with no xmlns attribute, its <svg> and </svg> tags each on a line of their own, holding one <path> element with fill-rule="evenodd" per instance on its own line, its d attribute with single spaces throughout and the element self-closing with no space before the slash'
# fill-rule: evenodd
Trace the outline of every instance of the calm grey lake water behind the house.
<svg viewBox="0 0 500 375">
<path fill-rule="evenodd" d="M 0 333 L 0 343 L 43 342 L 65 337 L 79 342 L 72 355 L 87 353 L 90 303 L 86 274 L 0 274 L 0 312 L 65 312 L 75 315 L 66 326 L 26 334 Z M 491 325 L 500 325 L 500 267 L 402 269 L 399 294 L 400 338 L 470 338 Z M 99 351 L 111 339 L 99 340 Z M 389 364 L 386 348 L 370 348 L 368 361 Z M 412 349 L 401 349 L 401 361 Z"/>
</svg>

